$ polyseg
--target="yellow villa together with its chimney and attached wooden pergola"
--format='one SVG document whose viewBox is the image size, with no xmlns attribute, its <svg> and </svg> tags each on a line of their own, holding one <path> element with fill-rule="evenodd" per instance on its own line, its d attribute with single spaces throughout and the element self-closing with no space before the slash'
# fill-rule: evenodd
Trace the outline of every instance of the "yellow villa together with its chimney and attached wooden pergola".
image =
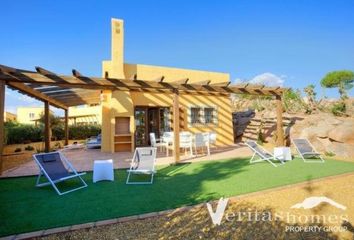
<svg viewBox="0 0 354 240">
<path fill-rule="evenodd" d="M 101 110 L 103 153 L 133 152 L 151 144 L 150 133 L 160 138 L 164 132 L 183 131 L 213 133 L 214 145 L 223 147 L 234 143 L 230 95 L 266 95 L 276 99 L 277 145 L 284 145 L 281 98 L 285 88 L 231 85 L 228 73 L 124 63 L 123 21 L 112 19 L 111 32 L 111 60 L 103 61 L 101 78 L 76 69 L 72 75 L 58 75 L 42 67 L 34 72 L 0 65 L 0 113 L 4 112 L 5 85 L 44 102 L 46 152 L 50 151 L 50 105 L 64 110 L 65 145 L 70 109 L 88 105 Z M 172 148 L 178 162 L 179 134 L 174 134 Z M 0 172 L 2 162 L 0 157 Z"/>
</svg>

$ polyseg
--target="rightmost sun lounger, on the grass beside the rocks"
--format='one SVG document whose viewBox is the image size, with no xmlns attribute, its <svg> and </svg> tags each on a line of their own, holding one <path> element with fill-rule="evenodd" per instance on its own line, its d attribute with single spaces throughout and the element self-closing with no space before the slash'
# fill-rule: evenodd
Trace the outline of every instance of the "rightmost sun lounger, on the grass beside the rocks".
<svg viewBox="0 0 354 240">
<path fill-rule="evenodd" d="M 316 151 L 310 141 L 306 138 L 294 138 L 292 139 L 292 142 L 294 143 L 296 151 L 299 153 L 304 162 L 324 162 L 323 158 L 321 157 L 321 154 Z"/>
</svg>

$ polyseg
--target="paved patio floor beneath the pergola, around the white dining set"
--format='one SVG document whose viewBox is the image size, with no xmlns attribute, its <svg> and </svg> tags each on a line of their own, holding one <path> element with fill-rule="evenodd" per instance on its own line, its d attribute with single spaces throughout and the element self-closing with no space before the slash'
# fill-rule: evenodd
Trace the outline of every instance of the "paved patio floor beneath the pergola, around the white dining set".
<svg viewBox="0 0 354 240">
<path fill-rule="evenodd" d="M 64 155 L 70 160 L 73 166 L 81 171 L 92 171 L 94 160 L 112 159 L 115 169 L 129 168 L 131 159 L 134 153 L 131 152 L 116 152 L 116 153 L 104 153 L 100 149 L 71 149 L 65 150 Z M 175 160 L 173 156 L 166 157 L 166 152 L 158 151 L 157 153 L 157 165 L 169 165 L 174 164 Z M 218 147 L 210 149 L 210 156 L 205 152 L 199 152 L 197 156 L 191 157 L 189 153 L 187 155 L 184 152 L 181 153 L 181 163 L 187 162 L 200 162 L 200 161 L 217 161 L 220 159 L 229 158 L 243 158 L 249 157 L 252 152 L 248 147 L 242 144 L 235 144 L 229 147 Z M 38 166 L 34 161 L 29 161 L 18 167 L 4 171 L 0 178 L 3 177 L 19 177 L 19 176 L 32 176 L 38 174 Z"/>
</svg>

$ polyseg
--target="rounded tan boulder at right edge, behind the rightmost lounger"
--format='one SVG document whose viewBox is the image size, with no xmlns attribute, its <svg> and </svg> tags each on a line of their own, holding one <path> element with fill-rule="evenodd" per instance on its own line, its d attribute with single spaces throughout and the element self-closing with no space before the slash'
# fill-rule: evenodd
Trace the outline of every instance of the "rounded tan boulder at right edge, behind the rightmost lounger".
<svg viewBox="0 0 354 240">
<path fill-rule="evenodd" d="M 354 145 L 354 123 L 346 123 L 333 128 L 328 137 L 336 142 Z"/>
</svg>

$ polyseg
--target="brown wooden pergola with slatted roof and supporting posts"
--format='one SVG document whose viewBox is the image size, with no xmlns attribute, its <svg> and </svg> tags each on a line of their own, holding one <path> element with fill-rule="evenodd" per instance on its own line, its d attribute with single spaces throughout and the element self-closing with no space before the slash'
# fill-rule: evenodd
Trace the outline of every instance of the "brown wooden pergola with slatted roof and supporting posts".
<svg viewBox="0 0 354 240">
<path fill-rule="evenodd" d="M 68 144 L 68 108 L 83 104 L 99 103 L 104 90 L 173 93 L 173 129 L 179 132 L 179 95 L 207 94 L 230 95 L 252 94 L 275 96 L 277 102 L 277 145 L 284 144 L 281 97 L 285 88 L 264 85 L 239 84 L 230 82 L 213 84 L 211 80 L 188 83 L 189 79 L 164 81 L 164 76 L 153 80 L 140 80 L 137 75 L 131 79 L 87 77 L 77 70 L 72 75 L 58 75 L 41 67 L 36 71 L 21 70 L 0 65 L 0 114 L 4 115 L 5 85 L 44 102 L 45 150 L 50 150 L 49 106 L 61 108 L 65 112 L 65 144 Z M 0 139 L 4 137 L 4 118 L 0 120 Z M 174 158 L 179 161 L 179 134 L 174 134 Z M 2 172 L 3 141 L 0 141 L 0 173 Z"/>
</svg>

